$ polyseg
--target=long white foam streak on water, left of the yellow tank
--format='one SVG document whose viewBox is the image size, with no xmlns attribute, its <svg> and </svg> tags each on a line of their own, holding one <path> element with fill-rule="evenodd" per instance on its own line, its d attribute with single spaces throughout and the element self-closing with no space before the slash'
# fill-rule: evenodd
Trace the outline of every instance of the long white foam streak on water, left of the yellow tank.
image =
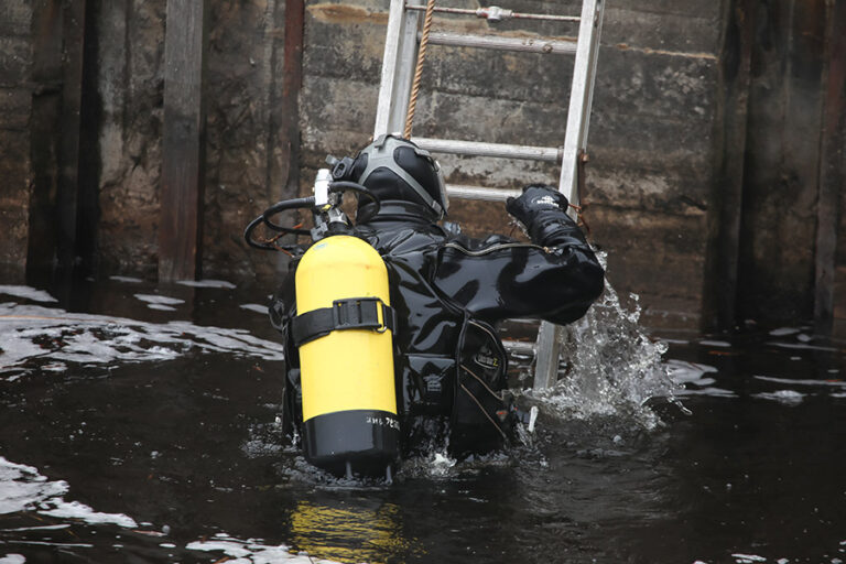
<svg viewBox="0 0 846 564">
<path fill-rule="evenodd" d="M 0 373 L 30 360 L 110 364 L 171 360 L 188 350 L 282 360 L 281 344 L 245 329 L 164 324 L 91 314 L 68 314 L 37 305 L 0 304 Z M 66 368 L 66 367 L 64 367 Z"/>
</svg>

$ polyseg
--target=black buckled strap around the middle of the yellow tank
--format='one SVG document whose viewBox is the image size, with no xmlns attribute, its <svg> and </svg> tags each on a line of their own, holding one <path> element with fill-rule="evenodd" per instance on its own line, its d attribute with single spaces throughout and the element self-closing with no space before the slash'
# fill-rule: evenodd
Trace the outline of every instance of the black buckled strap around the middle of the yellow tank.
<svg viewBox="0 0 846 564">
<path fill-rule="evenodd" d="M 380 315 L 381 312 L 381 315 Z M 379 318 L 381 317 L 381 321 Z M 312 310 L 294 317 L 291 324 L 294 344 L 300 347 L 333 330 L 372 329 L 391 333 L 397 327 L 397 312 L 378 297 L 335 300 L 332 307 Z"/>
</svg>

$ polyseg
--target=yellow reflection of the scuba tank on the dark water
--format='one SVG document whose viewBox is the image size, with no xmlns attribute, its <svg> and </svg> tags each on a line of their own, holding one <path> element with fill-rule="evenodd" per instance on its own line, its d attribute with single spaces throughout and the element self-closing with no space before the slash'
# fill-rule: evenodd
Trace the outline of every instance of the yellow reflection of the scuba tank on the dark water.
<svg viewBox="0 0 846 564">
<path fill-rule="evenodd" d="M 349 501 L 300 501 L 290 517 L 292 550 L 340 562 L 371 563 L 412 552 L 399 506 L 365 498 Z"/>
</svg>

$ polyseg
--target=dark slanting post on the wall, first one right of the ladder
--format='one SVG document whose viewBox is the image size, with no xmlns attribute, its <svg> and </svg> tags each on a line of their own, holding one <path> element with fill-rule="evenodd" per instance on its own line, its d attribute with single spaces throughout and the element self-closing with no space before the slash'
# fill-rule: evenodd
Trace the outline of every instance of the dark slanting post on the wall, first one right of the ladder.
<svg viewBox="0 0 846 564">
<path fill-rule="evenodd" d="M 730 330 L 735 325 L 740 246 L 740 214 L 746 161 L 746 127 L 755 43 L 757 0 L 726 4 L 720 53 L 723 117 L 715 135 L 717 174 L 714 209 L 708 214 L 703 325 L 706 330 Z"/>
</svg>

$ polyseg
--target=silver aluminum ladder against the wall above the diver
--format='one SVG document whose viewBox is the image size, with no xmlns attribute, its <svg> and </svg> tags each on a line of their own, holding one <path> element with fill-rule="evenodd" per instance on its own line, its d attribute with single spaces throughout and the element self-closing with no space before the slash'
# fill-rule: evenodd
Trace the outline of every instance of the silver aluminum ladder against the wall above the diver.
<svg viewBox="0 0 846 564">
<path fill-rule="evenodd" d="M 403 131 L 417 62 L 419 42 L 423 39 L 423 33 L 419 31 L 419 28 L 422 12 L 426 9 L 425 3 L 425 0 L 391 0 L 373 138 L 384 133 Z M 427 44 L 432 45 L 575 55 L 566 133 L 564 145 L 553 148 L 416 137 L 412 137 L 412 141 L 434 153 L 560 162 L 558 189 L 567 196 L 572 204 L 577 205 L 578 160 L 587 144 L 587 129 L 604 9 L 604 0 L 584 0 L 581 17 L 523 14 L 498 7 L 477 10 L 435 7 L 434 12 L 436 13 L 470 14 L 486 18 L 489 21 L 520 18 L 578 22 L 578 39 L 576 41 L 524 40 L 432 31 L 425 37 Z M 451 197 L 466 199 L 505 200 L 508 196 L 514 196 L 519 193 L 520 191 L 514 189 L 447 184 L 447 194 Z M 572 209 L 570 213 L 571 215 L 574 214 Z M 564 327 L 560 325 L 547 322 L 541 323 L 535 346 L 536 365 L 533 384 L 535 389 L 549 388 L 557 380 L 560 343 L 563 330 Z"/>
</svg>

